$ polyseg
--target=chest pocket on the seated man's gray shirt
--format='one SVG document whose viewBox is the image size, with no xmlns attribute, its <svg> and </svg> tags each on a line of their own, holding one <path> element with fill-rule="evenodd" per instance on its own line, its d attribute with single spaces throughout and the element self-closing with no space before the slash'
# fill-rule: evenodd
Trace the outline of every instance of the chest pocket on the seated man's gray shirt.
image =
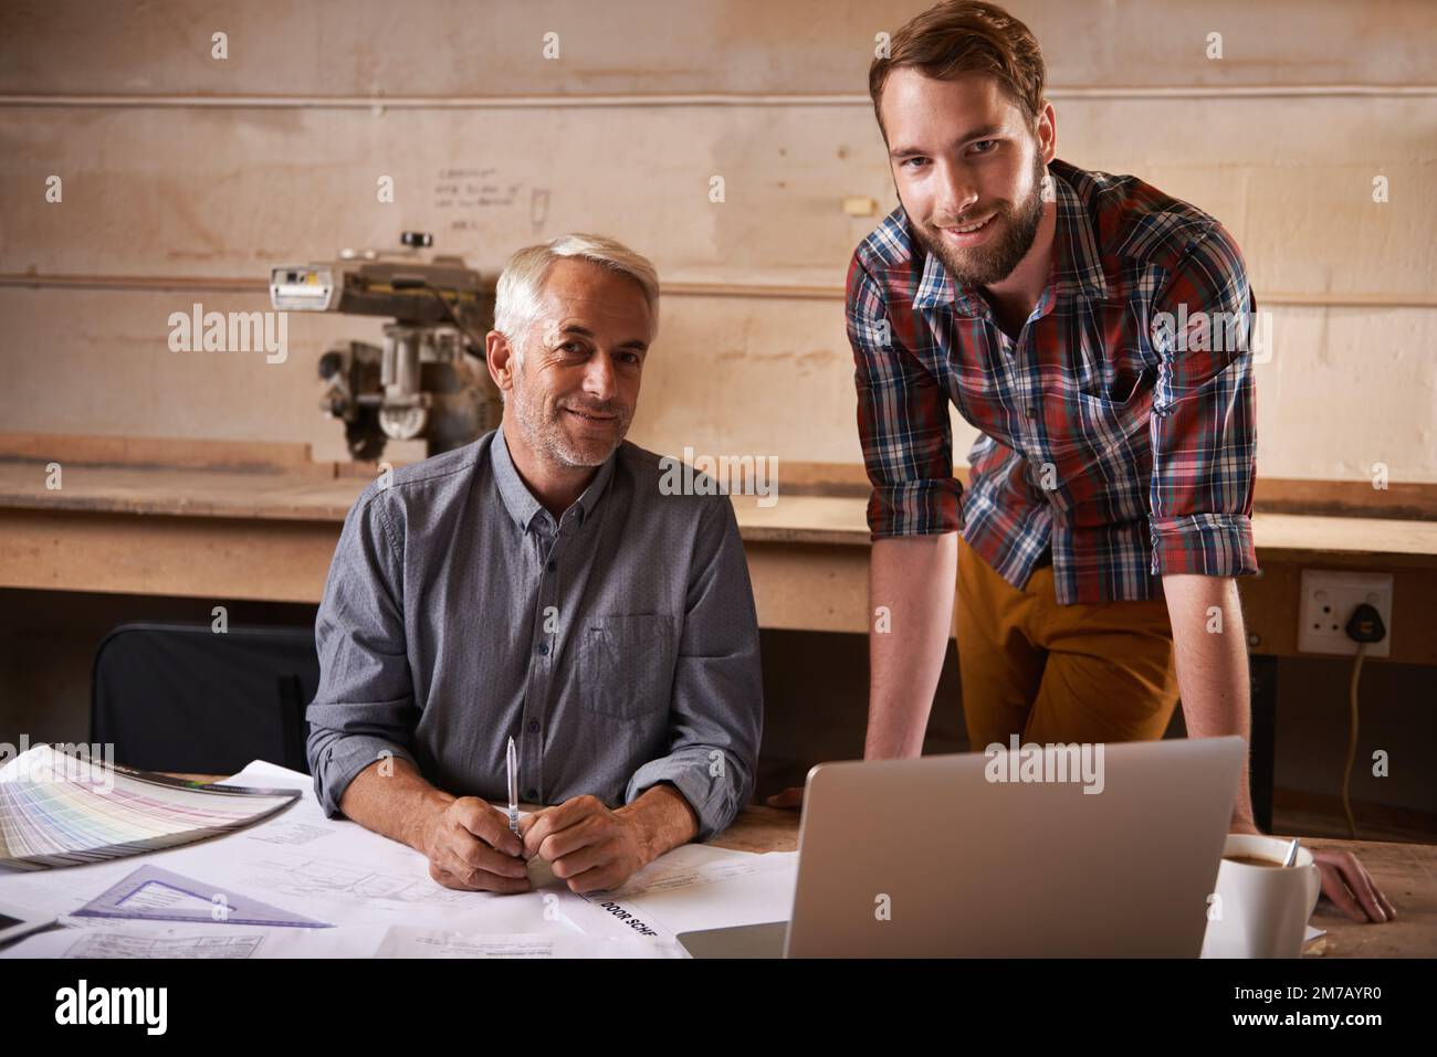
<svg viewBox="0 0 1437 1057">
<path fill-rule="evenodd" d="M 616 720 L 668 708 L 674 619 L 658 613 L 592 616 L 579 639 L 579 705 Z"/>
</svg>

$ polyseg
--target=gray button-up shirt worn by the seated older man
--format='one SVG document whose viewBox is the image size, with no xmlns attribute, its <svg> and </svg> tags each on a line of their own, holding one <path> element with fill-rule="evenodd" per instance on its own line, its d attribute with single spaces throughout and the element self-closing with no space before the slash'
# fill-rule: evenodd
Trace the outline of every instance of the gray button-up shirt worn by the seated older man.
<svg viewBox="0 0 1437 1057">
<path fill-rule="evenodd" d="M 753 791 L 759 626 L 727 495 L 664 495 L 624 442 L 558 521 L 503 431 L 371 484 L 319 606 L 309 767 L 331 817 L 385 753 L 456 796 L 629 803 L 673 783 L 698 839 Z"/>
</svg>

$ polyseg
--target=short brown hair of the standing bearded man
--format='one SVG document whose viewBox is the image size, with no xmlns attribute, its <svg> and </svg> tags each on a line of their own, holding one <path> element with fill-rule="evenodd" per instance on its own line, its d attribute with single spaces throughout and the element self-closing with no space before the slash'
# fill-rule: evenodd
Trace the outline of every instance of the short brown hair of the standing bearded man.
<svg viewBox="0 0 1437 1057">
<path fill-rule="evenodd" d="M 937 80 L 987 73 L 1022 108 L 1029 125 L 1043 111 L 1043 52 L 1032 30 L 997 4 L 943 0 L 894 33 L 888 57 L 874 59 L 868 67 L 868 95 L 885 139 L 878 101 L 888 75 L 902 66 L 915 66 Z"/>
</svg>

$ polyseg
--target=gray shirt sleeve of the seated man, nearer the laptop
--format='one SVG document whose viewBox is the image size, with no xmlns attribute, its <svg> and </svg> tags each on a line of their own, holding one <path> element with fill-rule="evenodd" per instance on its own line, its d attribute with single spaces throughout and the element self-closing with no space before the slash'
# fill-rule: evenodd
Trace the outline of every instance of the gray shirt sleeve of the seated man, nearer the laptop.
<svg viewBox="0 0 1437 1057">
<path fill-rule="evenodd" d="M 763 734 L 759 618 L 733 504 L 706 504 L 694 541 L 670 702 L 670 751 L 639 767 L 625 801 L 667 781 L 718 836 L 753 796 Z"/>
</svg>

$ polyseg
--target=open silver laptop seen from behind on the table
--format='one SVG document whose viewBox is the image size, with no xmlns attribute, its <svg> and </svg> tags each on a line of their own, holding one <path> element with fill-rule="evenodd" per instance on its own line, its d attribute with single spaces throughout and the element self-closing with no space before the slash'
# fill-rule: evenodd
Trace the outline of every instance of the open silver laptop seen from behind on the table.
<svg viewBox="0 0 1437 1057">
<path fill-rule="evenodd" d="M 790 921 L 678 941 L 696 958 L 1197 958 L 1246 742 L 1098 748 L 819 764 Z"/>
</svg>

